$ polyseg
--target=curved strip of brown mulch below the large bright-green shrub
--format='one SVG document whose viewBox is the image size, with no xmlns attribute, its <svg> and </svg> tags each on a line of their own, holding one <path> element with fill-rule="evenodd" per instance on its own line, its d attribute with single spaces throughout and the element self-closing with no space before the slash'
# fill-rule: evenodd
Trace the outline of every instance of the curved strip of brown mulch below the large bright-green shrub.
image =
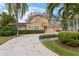
<svg viewBox="0 0 79 59">
<path fill-rule="evenodd" d="M 57 43 L 58 45 L 60 45 L 62 48 L 65 48 L 67 50 L 72 50 L 72 51 L 79 52 L 79 47 L 70 47 L 70 46 L 67 46 L 66 44 L 60 42 L 59 40 L 54 40 L 54 42 Z"/>
</svg>

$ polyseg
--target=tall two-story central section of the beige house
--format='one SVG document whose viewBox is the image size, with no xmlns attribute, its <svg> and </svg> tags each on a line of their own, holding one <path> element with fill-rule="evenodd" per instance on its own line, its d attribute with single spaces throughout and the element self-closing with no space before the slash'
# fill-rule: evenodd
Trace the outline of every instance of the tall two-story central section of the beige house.
<svg viewBox="0 0 79 59">
<path fill-rule="evenodd" d="M 35 27 L 39 27 L 38 30 L 44 30 L 44 25 L 48 25 L 48 19 L 36 16 L 27 24 L 27 30 L 37 30 Z"/>
</svg>

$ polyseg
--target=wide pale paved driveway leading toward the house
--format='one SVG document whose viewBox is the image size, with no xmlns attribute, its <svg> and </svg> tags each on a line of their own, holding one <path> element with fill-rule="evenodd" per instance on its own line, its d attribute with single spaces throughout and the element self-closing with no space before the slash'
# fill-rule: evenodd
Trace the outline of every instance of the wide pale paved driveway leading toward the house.
<svg viewBox="0 0 79 59">
<path fill-rule="evenodd" d="M 0 46 L 0 56 L 57 56 L 39 41 L 40 34 L 27 34 Z"/>
</svg>

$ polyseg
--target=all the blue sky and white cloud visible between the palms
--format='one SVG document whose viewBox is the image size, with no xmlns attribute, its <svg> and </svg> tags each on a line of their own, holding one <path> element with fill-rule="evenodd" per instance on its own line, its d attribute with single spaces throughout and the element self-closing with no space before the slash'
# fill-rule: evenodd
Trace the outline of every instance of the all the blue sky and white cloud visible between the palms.
<svg viewBox="0 0 79 59">
<path fill-rule="evenodd" d="M 26 12 L 25 16 L 23 19 L 20 20 L 20 22 L 24 22 L 25 19 L 27 19 L 28 14 L 31 12 L 40 12 L 40 13 L 45 13 L 46 12 L 46 6 L 47 3 L 28 3 L 28 12 Z M 58 10 L 63 7 L 63 4 L 61 4 L 58 8 L 55 8 L 53 13 L 54 15 L 58 15 Z M 5 4 L 0 3 L 0 13 L 1 12 L 7 12 L 7 8 Z"/>
</svg>

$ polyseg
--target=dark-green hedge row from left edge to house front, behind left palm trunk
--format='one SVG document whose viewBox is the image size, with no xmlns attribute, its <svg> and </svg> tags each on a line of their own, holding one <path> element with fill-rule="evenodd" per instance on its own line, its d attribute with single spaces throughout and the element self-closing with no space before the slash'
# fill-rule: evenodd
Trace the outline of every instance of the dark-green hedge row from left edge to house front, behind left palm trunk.
<svg viewBox="0 0 79 59">
<path fill-rule="evenodd" d="M 44 33 L 44 30 L 18 30 L 19 34 L 38 34 L 38 33 Z M 16 28 L 14 27 L 4 27 L 0 31 L 0 36 L 11 36 L 16 35 Z"/>
</svg>

